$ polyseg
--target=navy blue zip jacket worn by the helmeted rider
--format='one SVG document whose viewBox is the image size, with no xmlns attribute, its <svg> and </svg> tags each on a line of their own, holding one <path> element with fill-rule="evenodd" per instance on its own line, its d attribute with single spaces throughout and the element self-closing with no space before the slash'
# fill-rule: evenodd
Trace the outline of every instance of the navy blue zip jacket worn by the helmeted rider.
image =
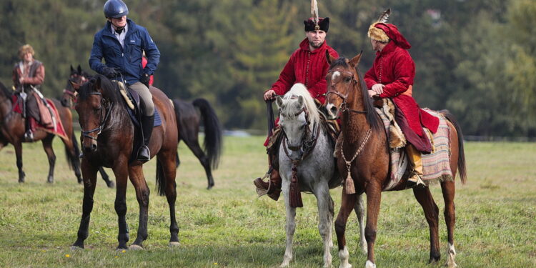
<svg viewBox="0 0 536 268">
<path fill-rule="evenodd" d="M 134 24 L 131 19 L 126 19 L 126 23 L 129 24 L 129 31 L 126 32 L 124 48 L 114 36 L 110 21 L 95 34 L 89 66 L 99 74 L 103 74 L 106 66 L 119 68 L 126 83 L 134 84 L 143 74 L 154 74 L 160 61 L 160 51 L 147 29 Z M 145 68 L 142 66 L 143 51 L 147 56 Z M 101 62 L 103 57 L 106 65 Z"/>
</svg>

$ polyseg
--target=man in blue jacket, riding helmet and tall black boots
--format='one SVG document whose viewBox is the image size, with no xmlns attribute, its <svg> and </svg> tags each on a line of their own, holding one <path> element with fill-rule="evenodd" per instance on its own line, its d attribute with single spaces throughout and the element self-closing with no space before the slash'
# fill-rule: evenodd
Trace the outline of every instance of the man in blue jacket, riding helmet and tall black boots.
<svg viewBox="0 0 536 268">
<path fill-rule="evenodd" d="M 109 79 L 121 80 L 136 91 L 144 104 L 142 131 L 144 146 L 138 151 L 137 159 L 146 162 L 151 158 L 149 139 L 154 123 L 154 104 L 149 92 L 149 78 L 157 69 L 160 51 L 149 32 L 142 26 L 126 19 L 129 9 L 121 0 L 108 0 L 104 4 L 104 16 L 108 20 L 103 29 L 95 34 L 89 66 Z M 147 55 L 147 65 L 142 67 L 142 54 Z M 102 64 L 104 57 L 106 64 Z"/>
</svg>

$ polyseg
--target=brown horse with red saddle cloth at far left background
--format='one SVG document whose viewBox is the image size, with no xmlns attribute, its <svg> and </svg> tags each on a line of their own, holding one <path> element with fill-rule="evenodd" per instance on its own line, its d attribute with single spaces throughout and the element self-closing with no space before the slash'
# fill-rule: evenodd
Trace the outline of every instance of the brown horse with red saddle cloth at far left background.
<svg viewBox="0 0 536 268">
<path fill-rule="evenodd" d="M 13 111 L 13 104 L 11 104 L 11 96 L 13 91 L 6 89 L 4 84 L 0 83 L 0 149 L 4 145 L 10 143 L 15 147 L 16 154 L 16 167 L 19 169 L 19 182 L 24 182 L 24 171 L 22 170 L 22 142 L 24 141 L 24 131 L 26 130 L 25 119 L 21 114 Z M 74 174 L 78 182 L 82 182 L 80 174 L 80 160 L 78 155 L 80 154 L 78 143 L 73 132 L 72 114 L 71 111 L 59 104 L 56 99 L 51 99 L 54 102 L 54 106 L 59 114 L 61 124 L 64 126 L 66 138 L 61 139 L 65 144 L 65 154 L 69 167 L 74 169 Z M 46 182 L 54 182 L 54 165 L 56 164 L 56 154 L 52 149 L 52 140 L 55 135 L 50 134 L 43 130 L 36 130 L 34 133 L 34 142 L 41 141 L 43 143 L 44 151 L 49 159 L 49 176 Z"/>
</svg>

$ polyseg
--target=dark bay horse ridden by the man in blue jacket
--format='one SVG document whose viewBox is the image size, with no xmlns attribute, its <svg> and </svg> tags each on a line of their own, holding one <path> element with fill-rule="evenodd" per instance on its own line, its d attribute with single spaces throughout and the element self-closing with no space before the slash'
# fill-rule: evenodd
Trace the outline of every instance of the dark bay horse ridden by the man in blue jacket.
<svg viewBox="0 0 536 268">
<path fill-rule="evenodd" d="M 175 199 L 177 199 L 175 174 L 177 154 L 177 121 L 172 101 L 157 88 L 151 87 L 155 107 L 158 109 L 162 125 L 153 130 L 149 149 L 151 157 L 157 156 L 157 188 L 160 195 L 166 195 L 169 204 L 171 224 L 170 245 L 179 244 L 179 227 L 175 219 Z M 99 167 L 111 167 L 116 177 L 115 211 L 119 218 L 119 249 L 126 249 L 129 229 L 126 224 L 126 184 L 128 179 L 136 189 L 139 204 L 139 226 L 137 238 L 131 249 L 141 249 L 147 239 L 147 217 L 149 206 L 149 187 L 145 181 L 141 162 L 131 162 L 134 128 L 119 90 L 105 76 L 97 74 L 78 90 L 76 111 L 82 129 L 81 139 L 84 149 L 81 169 L 84 177 L 84 203 L 78 231 L 78 239 L 73 248 L 84 248 L 88 237 L 89 217 L 93 209 L 96 172 Z"/>
</svg>

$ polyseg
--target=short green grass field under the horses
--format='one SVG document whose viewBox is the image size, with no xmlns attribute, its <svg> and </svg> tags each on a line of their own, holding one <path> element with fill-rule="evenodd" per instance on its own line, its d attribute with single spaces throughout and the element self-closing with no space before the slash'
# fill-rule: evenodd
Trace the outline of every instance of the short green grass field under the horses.
<svg viewBox="0 0 536 268">
<path fill-rule="evenodd" d="M 207 190 L 204 170 L 181 144 L 177 170 L 177 219 L 181 246 L 169 249 L 169 209 L 154 187 L 155 161 L 145 165 L 152 190 L 149 238 L 144 251 L 116 251 L 115 190 L 97 182 L 86 249 L 71 251 L 81 216 L 82 186 L 68 169 L 63 144 L 55 139 L 54 184 L 41 144 L 24 144 L 26 183 L 17 183 L 14 149 L 0 152 L 0 267 L 277 267 L 284 254 L 284 203 L 257 198 L 252 179 L 266 171 L 264 137 L 225 137 L 224 154 Z M 536 267 L 536 144 L 466 143 L 468 183 L 457 180 L 455 247 L 459 267 Z M 110 169 L 106 169 L 113 178 Z M 332 190 L 335 213 L 341 188 Z M 440 243 L 445 262 L 447 234 L 438 185 Z M 322 267 L 316 200 L 304 194 L 297 210 L 292 267 Z M 138 225 L 134 188 L 127 192 L 130 242 Z M 364 267 L 354 214 L 347 225 L 350 263 Z M 334 243 L 336 242 L 334 236 Z M 382 194 L 378 267 L 430 267 L 429 232 L 412 191 Z M 337 247 L 332 249 L 339 265 Z"/>
</svg>

